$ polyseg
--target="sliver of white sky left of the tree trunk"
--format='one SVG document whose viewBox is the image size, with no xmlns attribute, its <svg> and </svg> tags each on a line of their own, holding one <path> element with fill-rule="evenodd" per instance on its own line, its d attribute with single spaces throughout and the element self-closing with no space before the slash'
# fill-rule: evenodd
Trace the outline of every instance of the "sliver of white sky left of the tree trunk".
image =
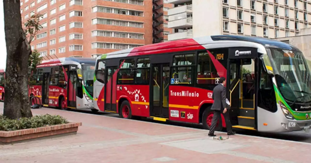
<svg viewBox="0 0 311 163">
<path fill-rule="evenodd" d="M 3 15 L 3 1 L 0 0 L 0 69 L 5 69 L 7 61 L 7 47 L 5 44 L 5 33 L 4 33 L 4 15 Z"/>
</svg>

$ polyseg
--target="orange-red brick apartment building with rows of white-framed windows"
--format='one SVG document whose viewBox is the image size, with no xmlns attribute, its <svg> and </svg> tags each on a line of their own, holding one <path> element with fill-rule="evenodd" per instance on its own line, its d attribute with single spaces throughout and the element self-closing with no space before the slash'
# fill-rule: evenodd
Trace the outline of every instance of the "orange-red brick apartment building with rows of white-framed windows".
<svg viewBox="0 0 311 163">
<path fill-rule="evenodd" d="M 43 15 L 31 48 L 44 59 L 97 57 L 153 43 L 153 6 L 151 0 L 22 0 L 21 17 L 24 23 Z M 163 6 L 165 19 L 171 5 Z M 162 41 L 171 32 L 165 23 Z"/>
</svg>

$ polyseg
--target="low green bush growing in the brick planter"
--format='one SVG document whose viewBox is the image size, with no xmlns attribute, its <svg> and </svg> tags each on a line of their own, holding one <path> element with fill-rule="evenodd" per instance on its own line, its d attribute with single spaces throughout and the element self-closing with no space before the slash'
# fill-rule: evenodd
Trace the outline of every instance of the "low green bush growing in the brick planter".
<svg viewBox="0 0 311 163">
<path fill-rule="evenodd" d="M 14 131 L 69 123 L 60 115 L 36 115 L 31 118 L 8 119 L 0 115 L 0 131 Z"/>
</svg>

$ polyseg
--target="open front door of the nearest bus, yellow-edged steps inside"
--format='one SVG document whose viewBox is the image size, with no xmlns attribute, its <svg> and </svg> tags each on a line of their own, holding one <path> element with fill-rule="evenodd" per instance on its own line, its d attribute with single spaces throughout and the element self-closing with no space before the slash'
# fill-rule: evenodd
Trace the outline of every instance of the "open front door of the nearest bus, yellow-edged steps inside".
<svg viewBox="0 0 311 163">
<path fill-rule="evenodd" d="M 230 48 L 227 62 L 227 97 L 235 128 L 255 129 L 258 94 L 257 48 Z"/>
</svg>

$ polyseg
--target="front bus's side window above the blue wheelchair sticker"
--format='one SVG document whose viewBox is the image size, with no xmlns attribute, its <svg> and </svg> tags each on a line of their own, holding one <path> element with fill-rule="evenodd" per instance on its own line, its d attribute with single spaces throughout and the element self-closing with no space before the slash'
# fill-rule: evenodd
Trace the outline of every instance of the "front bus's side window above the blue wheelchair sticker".
<svg viewBox="0 0 311 163">
<path fill-rule="evenodd" d="M 195 67 L 195 55 L 183 54 L 173 57 L 171 78 L 175 79 L 174 84 L 193 84 L 193 68 Z"/>
</svg>

